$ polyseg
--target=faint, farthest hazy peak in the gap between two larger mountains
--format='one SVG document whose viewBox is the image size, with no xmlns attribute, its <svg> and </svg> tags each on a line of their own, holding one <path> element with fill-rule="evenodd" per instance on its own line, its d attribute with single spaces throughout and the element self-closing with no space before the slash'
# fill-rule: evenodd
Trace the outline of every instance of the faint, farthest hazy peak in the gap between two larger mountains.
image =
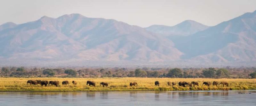
<svg viewBox="0 0 256 106">
<path fill-rule="evenodd" d="M 209 28 L 209 26 L 193 20 L 186 20 L 175 26 L 151 25 L 147 27 L 146 30 L 162 34 L 164 36 L 188 36 L 207 28 Z"/>
</svg>

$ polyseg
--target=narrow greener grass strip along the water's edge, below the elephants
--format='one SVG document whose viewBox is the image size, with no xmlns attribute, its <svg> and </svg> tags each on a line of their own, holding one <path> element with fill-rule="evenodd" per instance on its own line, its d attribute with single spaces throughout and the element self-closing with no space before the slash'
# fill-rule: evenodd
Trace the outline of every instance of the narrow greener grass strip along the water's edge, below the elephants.
<svg viewBox="0 0 256 106">
<path fill-rule="evenodd" d="M 174 89 L 174 88 L 178 89 Z M 50 89 L 49 89 L 50 88 Z M 154 87 L 153 89 L 145 88 L 145 87 L 133 87 L 133 88 L 62 88 L 62 87 L 49 87 L 46 89 L 45 87 L 28 87 L 28 88 L 3 88 L 0 87 L 0 92 L 8 92 L 8 91 L 210 91 L 210 90 L 256 90 L 256 87 L 249 87 L 248 89 L 244 89 L 242 87 L 208 87 L 206 89 L 198 89 L 194 87 Z M 54 89 L 55 88 L 55 89 Z"/>
</svg>

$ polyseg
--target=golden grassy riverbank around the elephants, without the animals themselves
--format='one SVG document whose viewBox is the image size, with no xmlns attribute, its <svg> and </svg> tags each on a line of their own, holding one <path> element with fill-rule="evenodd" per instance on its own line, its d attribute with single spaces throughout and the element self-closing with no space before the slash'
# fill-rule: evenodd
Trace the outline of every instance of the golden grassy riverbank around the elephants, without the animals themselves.
<svg viewBox="0 0 256 106">
<path fill-rule="evenodd" d="M 41 85 L 27 85 L 28 80 L 57 80 L 60 82 L 59 87 L 41 87 Z M 64 80 L 69 81 L 69 85 L 62 85 Z M 77 81 L 74 86 L 72 81 Z M 96 87 L 86 85 L 86 81 L 94 81 Z M 155 86 L 155 81 L 159 81 L 160 86 Z M 176 86 L 168 86 L 167 82 L 175 82 Z M 180 81 L 192 82 L 198 81 L 199 86 L 180 87 Z M 203 82 L 226 81 L 228 87 L 219 86 L 202 86 Z M 109 83 L 108 87 L 100 86 L 100 82 Z M 137 82 L 138 86 L 130 87 L 130 82 Z M 256 79 L 210 79 L 210 78 L 0 78 L 0 91 L 131 91 L 131 90 L 250 90 L 256 89 Z"/>
</svg>

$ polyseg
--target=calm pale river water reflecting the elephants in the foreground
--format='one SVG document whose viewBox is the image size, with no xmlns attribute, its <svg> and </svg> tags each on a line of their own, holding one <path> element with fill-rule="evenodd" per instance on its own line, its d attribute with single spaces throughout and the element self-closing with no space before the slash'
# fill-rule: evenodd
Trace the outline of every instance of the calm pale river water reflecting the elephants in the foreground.
<svg viewBox="0 0 256 106">
<path fill-rule="evenodd" d="M 60 105 L 256 106 L 256 90 L 0 92 L 0 106 Z"/>
</svg>

